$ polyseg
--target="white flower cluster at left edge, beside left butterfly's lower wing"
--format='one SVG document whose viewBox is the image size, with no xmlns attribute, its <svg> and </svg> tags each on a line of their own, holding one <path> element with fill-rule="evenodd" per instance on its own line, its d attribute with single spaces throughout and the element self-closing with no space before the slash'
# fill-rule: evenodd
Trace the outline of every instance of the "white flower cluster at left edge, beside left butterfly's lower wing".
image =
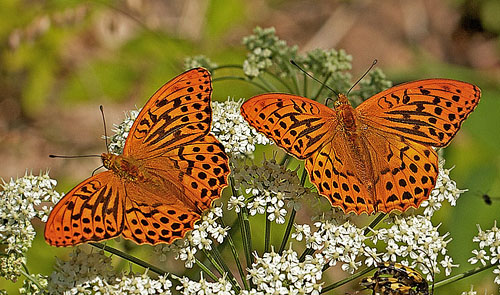
<svg viewBox="0 0 500 295">
<path fill-rule="evenodd" d="M 46 221 L 52 208 L 42 202 L 56 203 L 61 195 L 54 190 L 57 182 L 48 173 L 3 181 L 0 191 L 0 277 L 14 281 L 23 269 L 24 253 L 31 247 L 36 232 L 35 217 Z M 38 208 L 41 207 L 41 208 Z"/>
</svg>

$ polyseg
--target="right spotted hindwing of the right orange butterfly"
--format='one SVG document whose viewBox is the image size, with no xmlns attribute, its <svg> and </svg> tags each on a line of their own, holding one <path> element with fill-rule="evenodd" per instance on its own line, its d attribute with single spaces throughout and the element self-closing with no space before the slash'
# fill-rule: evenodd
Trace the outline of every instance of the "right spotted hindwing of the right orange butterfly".
<svg viewBox="0 0 500 295">
<path fill-rule="evenodd" d="M 431 147 L 372 127 L 361 138 L 374 174 L 375 211 L 405 212 L 429 198 L 438 175 L 438 157 Z"/>
</svg>

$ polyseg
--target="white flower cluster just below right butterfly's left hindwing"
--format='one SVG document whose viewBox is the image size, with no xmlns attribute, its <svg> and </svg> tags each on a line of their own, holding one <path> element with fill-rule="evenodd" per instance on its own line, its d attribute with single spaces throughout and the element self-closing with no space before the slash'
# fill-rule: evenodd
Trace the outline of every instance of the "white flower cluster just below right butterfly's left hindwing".
<svg viewBox="0 0 500 295">
<path fill-rule="evenodd" d="M 314 224 L 317 228 L 312 232 L 308 224 L 295 225 L 292 238 L 306 242 L 306 247 L 320 250 L 325 264 L 330 266 L 342 263 L 342 270 L 354 273 L 361 266 L 357 257 L 364 254 L 366 236 L 363 230 L 349 221 L 342 224 L 335 219 L 321 219 Z"/>
</svg>

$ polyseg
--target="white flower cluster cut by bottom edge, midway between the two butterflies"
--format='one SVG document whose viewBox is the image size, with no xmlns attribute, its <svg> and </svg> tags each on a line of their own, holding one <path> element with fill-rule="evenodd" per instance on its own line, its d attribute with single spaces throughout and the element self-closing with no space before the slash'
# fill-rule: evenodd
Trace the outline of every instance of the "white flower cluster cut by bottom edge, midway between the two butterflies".
<svg viewBox="0 0 500 295">
<path fill-rule="evenodd" d="M 248 269 L 247 278 L 255 285 L 254 292 L 243 294 L 317 294 L 321 293 L 321 255 L 306 255 L 299 260 L 297 252 L 291 248 L 281 255 L 271 250 L 263 257 L 254 254 L 255 262 Z"/>
</svg>

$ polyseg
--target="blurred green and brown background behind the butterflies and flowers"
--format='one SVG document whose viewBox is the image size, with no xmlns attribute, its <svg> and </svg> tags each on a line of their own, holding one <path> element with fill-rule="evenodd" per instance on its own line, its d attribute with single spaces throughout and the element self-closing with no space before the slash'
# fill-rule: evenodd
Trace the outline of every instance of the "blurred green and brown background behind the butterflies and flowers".
<svg viewBox="0 0 500 295">
<path fill-rule="evenodd" d="M 49 160 L 48 154 L 95 154 L 105 150 L 99 105 L 108 125 L 142 106 L 163 83 L 183 71 L 183 59 L 203 54 L 241 64 L 242 37 L 255 26 L 304 52 L 345 49 L 354 77 L 378 59 L 395 84 L 445 77 L 478 85 L 482 101 L 445 150 L 459 188 L 456 207 L 435 217 L 453 241 L 450 255 L 461 267 L 477 248 L 476 224 L 493 226 L 500 215 L 500 2 L 497 0 L 3 0 L 0 8 L 0 177 L 26 169 L 50 169 L 66 191 L 100 165 L 97 159 Z M 259 90 L 218 82 L 214 99 L 248 98 Z M 487 205 L 482 195 L 493 198 Z M 495 200 L 495 198 L 499 198 Z M 29 253 L 33 273 L 50 274 L 55 256 L 70 249 L 44 244 Z M 333 274 L 338 279 L 342 274 Z M 486 271 L 436 290 L 498 294 Z M 335 279 L 335 280 L 336 280 Z M 333 281 L 335 281 L 333 280 Z M 0 286 L 11 286 L 0 280 Z M 10 288 L 10 287 L 9 287 Z M 12 294 L 17 289 L 13 286 Z M 345 289 L 345 292 L 353 292 Z M 11 294 L 9 293 L 9 294 Z"/>
</svg>

